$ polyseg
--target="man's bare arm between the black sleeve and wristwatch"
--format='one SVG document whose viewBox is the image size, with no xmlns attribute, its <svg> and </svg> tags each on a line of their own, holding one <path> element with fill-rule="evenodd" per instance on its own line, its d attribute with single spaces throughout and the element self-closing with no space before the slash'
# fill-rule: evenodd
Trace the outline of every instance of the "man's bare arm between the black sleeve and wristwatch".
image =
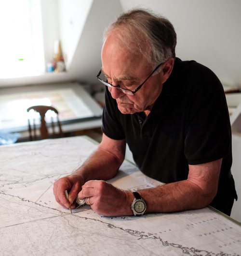
<svg viewBox="0 0 241 256">
<path fill-rule="evenodd" d="M 173 212 L 200 209 L 209 205 L 217 193 L 222 159 L 189 165 L 187 180 L 141 190 L 148 212 Z"/>
</svg>

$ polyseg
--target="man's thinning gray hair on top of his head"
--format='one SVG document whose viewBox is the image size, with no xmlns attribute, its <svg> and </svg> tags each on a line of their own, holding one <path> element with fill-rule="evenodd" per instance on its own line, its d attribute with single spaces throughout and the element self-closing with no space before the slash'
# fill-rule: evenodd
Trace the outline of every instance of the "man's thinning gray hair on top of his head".
<svg viewBox="0 0 241 256">
<path fill-rule="evenodd" d="M 134 9 L 120 15 L 107 28 L 104 41 L 113 31 L 127 50 L 139 51 L 153 67 L 175 58 L 176 33 L 171 22 L 162 16 Z"/>
</svg>

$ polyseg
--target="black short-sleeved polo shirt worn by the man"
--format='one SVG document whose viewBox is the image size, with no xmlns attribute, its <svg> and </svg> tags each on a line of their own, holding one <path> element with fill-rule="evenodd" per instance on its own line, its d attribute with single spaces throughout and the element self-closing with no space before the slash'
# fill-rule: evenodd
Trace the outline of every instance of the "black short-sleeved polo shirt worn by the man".
<svg viewBox="0 0 241 256">
<path fill-rule="evenodd" d="M 102 130 L 112 139 L 126 139 L 143 173 L 165 183 L 182 181 L 188 164 L 223 158 L 213 205 L 222 210 L 219 203 L 225 196 L 228 201 L 237 197 L 230 172 L 228 107 L 222 84 L 210 69 L 176 58 L 147 118 L 144 113 L 121 114 L 108 90 L 105 97 Z"/>
</svg>

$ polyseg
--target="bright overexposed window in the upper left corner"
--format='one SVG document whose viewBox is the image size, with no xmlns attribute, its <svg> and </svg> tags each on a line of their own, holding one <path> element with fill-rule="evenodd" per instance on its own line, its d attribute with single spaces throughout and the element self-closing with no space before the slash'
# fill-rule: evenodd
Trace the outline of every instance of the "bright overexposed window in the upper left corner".
<svg viewBox="0 0 241 256">
<path fill-rule="evenodd" d="M 40 0 L 0 1 L 0 78 L 45 71 Z"/>
</svg>

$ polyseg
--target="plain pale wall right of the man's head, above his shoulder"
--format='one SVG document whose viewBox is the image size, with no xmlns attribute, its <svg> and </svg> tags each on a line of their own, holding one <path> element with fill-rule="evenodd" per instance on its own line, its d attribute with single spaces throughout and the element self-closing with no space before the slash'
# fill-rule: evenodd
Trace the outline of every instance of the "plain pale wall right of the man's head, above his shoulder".
<svg viewBox="0 0 241 256">
<path fill-rule="evenodd" d="M 174 25 L 177 57 L 196 60 L 241 89 L 240 0 L 120 0 L 124 11 L 150 8 Z"/>
</svg>

